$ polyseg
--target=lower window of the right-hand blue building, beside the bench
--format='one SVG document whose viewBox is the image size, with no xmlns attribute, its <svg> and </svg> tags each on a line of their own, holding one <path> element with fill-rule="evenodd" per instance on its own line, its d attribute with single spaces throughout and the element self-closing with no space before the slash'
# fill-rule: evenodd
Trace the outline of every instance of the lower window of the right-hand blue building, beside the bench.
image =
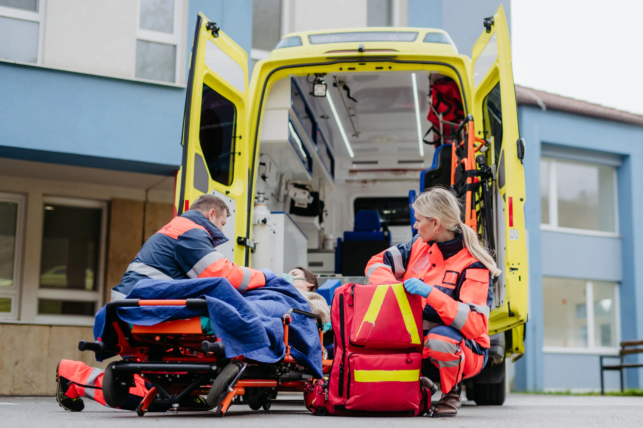
<svg viewBox="0 0 643 428">
<path fill-rule="evenodd" d="M 546 351 L 616 348 L 619 284 L 543 277 L 543 327 Z"/>
</svg>

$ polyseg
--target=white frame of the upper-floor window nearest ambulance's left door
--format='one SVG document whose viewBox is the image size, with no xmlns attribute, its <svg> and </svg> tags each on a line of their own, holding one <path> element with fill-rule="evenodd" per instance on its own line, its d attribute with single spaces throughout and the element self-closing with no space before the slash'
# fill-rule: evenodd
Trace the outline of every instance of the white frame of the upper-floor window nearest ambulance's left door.
<svg viewBox="0 0 643 428">
<path fill-rule="evenodd" d="M 145 42 L 155 42 L 161 44 L 170 44 L 176 48 L 176 64 L 174 64 L 174 82 L 165 82 L 163 80 L 150 80 L 150 82 L 163 82 L 169 84 L 181 84 L 181 71 L 183 70 L 183 0 L 174 0 L 174 22 L 172 24 L 172 34 L 163 33 L 163 31 L 143 30 L 141 25 L 141 1 L 136 2 L 136 40 Z M 134 43 L 136 43 L 134 40 Z M 136 76 L 136 47 L 134 48 L 134 73 Z M 141 80 L 149 80 L 142 79 Z"/>
</svg>

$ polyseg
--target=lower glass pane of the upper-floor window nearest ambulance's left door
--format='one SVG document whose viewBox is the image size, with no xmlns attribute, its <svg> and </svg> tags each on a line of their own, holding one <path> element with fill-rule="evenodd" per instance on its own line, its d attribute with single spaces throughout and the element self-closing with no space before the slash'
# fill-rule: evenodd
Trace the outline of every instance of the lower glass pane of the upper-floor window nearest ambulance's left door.
<svg viewBox="0 0 643 428">
<path fill-rule="evenodd" d="M 136 40 L 135 76 L 161 82 L 176 82 L 176 46 Z"/>
</svg>

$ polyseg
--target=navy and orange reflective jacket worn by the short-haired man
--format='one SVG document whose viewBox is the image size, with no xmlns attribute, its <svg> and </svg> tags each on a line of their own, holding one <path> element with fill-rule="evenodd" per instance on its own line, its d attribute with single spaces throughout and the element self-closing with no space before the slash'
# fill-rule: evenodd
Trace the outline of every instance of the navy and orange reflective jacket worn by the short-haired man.
<svg viewBox="0 0 643 428">
<path fill-rule="evenodd" d="M 111 299 L 124 299 L 140 280 L 185 280 L 222 276 L 239 290 L 266 284 L 263 272 L 230 262 L 214 247 L 227 242 L 210 220 L 199 211 L 188 210 L 150 236 L 127 267 Z"/>
</svg>

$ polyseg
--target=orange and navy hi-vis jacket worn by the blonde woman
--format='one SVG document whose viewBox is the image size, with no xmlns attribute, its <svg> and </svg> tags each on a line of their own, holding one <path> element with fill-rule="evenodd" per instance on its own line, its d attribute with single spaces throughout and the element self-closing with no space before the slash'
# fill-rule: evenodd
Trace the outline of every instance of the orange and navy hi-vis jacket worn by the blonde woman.
<svg viewBox="0 0 643 428">
<path fill-rule="evenodd" d="M 407 244 L 394 245 L 373 256 L 366 276 L 370 283 L 418 278 L 432 285 L 422 312 L 424 324 L 451 326 L 466 339 L 489 348 L 491 274 L 464 247 L 462 236 L 447 242 L 422 242 L 415 235 Z"/>
</svg>

